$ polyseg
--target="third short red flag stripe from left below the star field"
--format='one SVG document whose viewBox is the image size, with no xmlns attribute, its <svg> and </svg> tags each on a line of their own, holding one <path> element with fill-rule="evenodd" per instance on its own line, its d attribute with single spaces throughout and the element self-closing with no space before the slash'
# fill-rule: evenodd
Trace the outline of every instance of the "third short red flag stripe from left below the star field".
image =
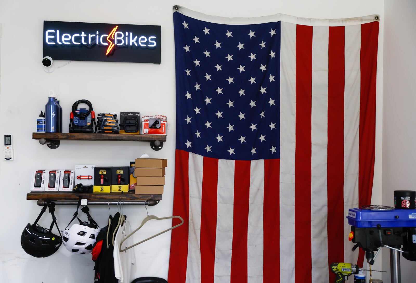
<svg viewBox="0 0 416 283">
<path fill-rule="evenodd" d="M 233 254 L 231 283 L 247 283 L 248 202 L 250 161 L 235 161 L 234 166 Z"/>
</svg>

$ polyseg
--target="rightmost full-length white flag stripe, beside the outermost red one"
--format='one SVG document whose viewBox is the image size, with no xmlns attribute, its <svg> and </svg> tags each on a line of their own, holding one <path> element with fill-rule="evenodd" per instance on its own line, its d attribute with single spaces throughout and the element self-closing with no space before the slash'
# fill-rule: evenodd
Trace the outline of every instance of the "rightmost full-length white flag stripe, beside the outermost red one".
<svg viewBox="0 0 416 283">
<path fill-rule="evenodd" d="M 361 25 L 345 27 L 345 90 L 344 90 L 344 216 L 358 207 L 358 153 L 360 112 Z M 351 227 L 344 218 L 344 235 Z M 345 237 L 347 241 L 347 236 Z M 357 262 L 358 253 L 344 244 L 344 262 Z"/>
</svg>

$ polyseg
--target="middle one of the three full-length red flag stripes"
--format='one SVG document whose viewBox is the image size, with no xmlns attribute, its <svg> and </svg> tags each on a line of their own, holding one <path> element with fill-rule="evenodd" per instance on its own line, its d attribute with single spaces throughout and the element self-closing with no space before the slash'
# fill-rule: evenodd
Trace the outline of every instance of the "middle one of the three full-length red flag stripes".
<svg viewBox="0 0 416 283">
<path fill-rule="evenodd" d="M 328 266 L 344 261 L 345 27 L 329 27 L 328 46 Z M 329 272 L 329 282 L 335 274 Z"/>
</svg>

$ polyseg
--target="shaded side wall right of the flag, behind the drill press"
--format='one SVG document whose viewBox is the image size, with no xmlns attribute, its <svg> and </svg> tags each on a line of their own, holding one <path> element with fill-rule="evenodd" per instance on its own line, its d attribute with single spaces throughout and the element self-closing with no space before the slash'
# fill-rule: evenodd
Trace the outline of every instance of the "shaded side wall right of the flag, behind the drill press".
<svg viewBox="0 0 416 283">
<path fill-rule="evenodd" d="M 383 204 L 394 206 L 394 190 L 416 190 L 416 2 L 386 0 L 384 8 Z M 384 251 L 383 270 L 389 269 Z M 416 262 L 401 257 L 402 282 L 415 276 Z"/>
</svg>

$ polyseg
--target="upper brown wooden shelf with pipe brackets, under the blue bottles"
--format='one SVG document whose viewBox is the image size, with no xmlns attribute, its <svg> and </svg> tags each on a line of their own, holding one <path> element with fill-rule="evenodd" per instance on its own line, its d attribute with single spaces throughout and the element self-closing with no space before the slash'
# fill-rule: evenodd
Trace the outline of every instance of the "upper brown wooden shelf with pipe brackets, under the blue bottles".
<svg viewBox="0 0 416 283">
<path fill-rule="evenodd" d="M 51 149 L 58 148 L 60 141 L 150 141 L 154 150 L 160 150 L 166 135 L 156 134 L 88 134 L 88 133 L 32 133 L 32 139 L 47 144 Z"/>
</svg>

